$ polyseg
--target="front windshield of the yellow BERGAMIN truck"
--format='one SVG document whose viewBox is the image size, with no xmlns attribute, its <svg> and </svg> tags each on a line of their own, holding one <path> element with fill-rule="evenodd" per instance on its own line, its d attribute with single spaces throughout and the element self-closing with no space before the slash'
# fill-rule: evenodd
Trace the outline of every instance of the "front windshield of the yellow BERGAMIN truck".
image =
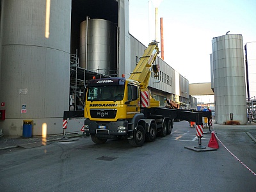
<svg viewBox="0 0 256 192">
<path fill-rule="evenodd" d="M 124 84 L 115 86 L 89 86 L 87 100 L 122 100 Z"/>
</svg>

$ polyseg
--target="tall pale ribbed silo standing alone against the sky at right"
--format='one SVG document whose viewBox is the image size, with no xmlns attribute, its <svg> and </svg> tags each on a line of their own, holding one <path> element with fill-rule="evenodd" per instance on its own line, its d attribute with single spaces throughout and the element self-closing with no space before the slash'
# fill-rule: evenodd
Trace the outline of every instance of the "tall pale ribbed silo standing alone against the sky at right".
<svg viewBox="0 0 256 192">
<path fill-rule="evenodd" d="M 216 124 L 233 120 L 246 124 L 246 89 L 242 35 L 212 39 Z"/>
</svg>

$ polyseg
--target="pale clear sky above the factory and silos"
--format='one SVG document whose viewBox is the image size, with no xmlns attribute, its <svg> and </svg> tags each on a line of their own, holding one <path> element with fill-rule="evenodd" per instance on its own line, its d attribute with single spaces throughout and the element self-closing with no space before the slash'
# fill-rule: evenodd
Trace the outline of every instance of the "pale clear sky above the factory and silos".
<svg viewBox="0 0 256 192">
<path fill-rule="evenodd" d="M 145 46 L 156 38 L 155 6 L 149 8 L 148 1 L 129 0 L 129 32 Z M 159 24 L 163 17 L 164 61 L 189 84 L 211 82 L 213 37 L 230 31 L 243 35 L 244 45 L 256 42 L 255 0 L 163 0 L 158 17 Z"/>
</svg>

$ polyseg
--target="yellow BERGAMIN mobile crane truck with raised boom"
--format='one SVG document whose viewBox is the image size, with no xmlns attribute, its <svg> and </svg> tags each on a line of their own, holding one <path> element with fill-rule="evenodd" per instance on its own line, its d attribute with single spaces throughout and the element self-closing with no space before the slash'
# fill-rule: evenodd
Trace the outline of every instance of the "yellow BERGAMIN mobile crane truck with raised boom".
<svg viewBox="0 0 256 192">
<path fill-rule="evenodd" d="M 202 113 L 160 107 L 148 90 L 151 73 L 159 75 L 154 64 L 159 53 L 157 42 L 151 42 L 129 79 L 113 77 L 88 81 L 84 102 L 84 132 L 92 141 L 103 144 L 108 139 L 127 138 L 133 147 L 171 134 L 173 119 L 202 125 Z M 70 111 L 71 112 L 71 111 Z M 64 113 L 64 118 L 79 116 L 81 111 Z M 70 113 L 70 114 L 71 114 Z"/>
</svg>

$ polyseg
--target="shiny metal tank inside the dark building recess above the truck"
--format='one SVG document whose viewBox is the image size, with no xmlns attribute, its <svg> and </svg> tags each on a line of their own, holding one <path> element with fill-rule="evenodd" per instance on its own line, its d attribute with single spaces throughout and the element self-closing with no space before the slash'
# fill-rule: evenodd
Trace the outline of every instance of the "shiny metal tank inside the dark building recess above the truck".
<svg viewBox="0 0 256 192">
<path fill-rule="evenodd" d="M 116 26 L 113 22 L 104 19 L 88 19 L 87 33 L 86 20 L 81 22 L 79 52 L 80 67 L 99 72 L 100 74 L 116 74 L 116 42 Z"/>
</svg>

